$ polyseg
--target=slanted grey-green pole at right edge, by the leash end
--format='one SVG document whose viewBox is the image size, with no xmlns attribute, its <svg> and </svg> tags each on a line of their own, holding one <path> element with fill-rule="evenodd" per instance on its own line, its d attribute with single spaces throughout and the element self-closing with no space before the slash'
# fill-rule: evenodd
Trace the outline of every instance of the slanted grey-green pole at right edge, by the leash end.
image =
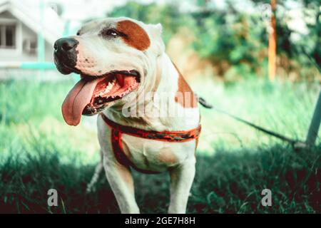
<svg viewBox="0 0 321 228">
<path fill-rule="evenodd" d="M 315 105 L 315 112 L 310 123 L 309 131 L 307 132 L 307 145 L 314 145 L 317 139 L 317 133 L 319 132 L 321 123 L 321 90 L 319 93 L 319 98 L 317 98 L 317 105 Z"/>
</svg>

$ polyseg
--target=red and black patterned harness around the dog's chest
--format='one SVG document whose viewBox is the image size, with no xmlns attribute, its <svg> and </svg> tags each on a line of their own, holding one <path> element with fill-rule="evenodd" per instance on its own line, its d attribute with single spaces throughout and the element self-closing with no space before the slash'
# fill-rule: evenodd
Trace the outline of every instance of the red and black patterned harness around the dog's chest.
<svg viewBox="0 0 321 228">
<path fill-rule="evenodd" d="M 101 117 L 105 123 L 111 127 L 111 144 L 113 146 L 113 152 L 115 154 L 116 160 L 122 165 L 131 166 L 140 172 L 146 172 L 146 170 L 141 170 L 135 165 L 131 160 L 128 160 L 125 153 L 123 152 L 123 145 L 121 143 L 121 135 L 123 133 L 127 135 L 136 136 L 139 138 L 146 138 L 149 140 L 158 140 L 165 142 L 187 142 L 190 140 L 198 139 L 200 136 L 200 125 L 198 128 L 192 130 L 180 130 L 180 131 L 155 131 L 155 130 L 142 130 L 138 128 L 133 128 L 129 126 L 120 125 L 118 123 L 109 120 L 106 115 L 101 113 Z M 147 171 L 151 172 L 151 171 Z M 151 172 L 153 173 L 153 172 Z"/>
</svg>

